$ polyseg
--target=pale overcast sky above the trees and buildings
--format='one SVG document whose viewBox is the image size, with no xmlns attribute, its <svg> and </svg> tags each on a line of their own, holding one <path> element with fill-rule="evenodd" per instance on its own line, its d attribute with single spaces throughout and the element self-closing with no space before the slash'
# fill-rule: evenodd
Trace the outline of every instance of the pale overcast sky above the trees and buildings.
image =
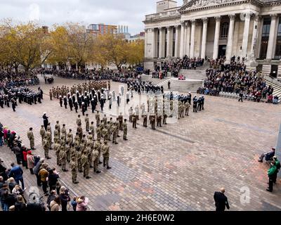
<svg viewBox="0 0 281 225">
<path fill-rule="evenodd" d="M 128 25 L 143 31 L 145 14 L 156 12 L 157 0 L 0 0 L 0 18 L 39 20 L 41 25 L 79 22 Z M 178 0 L 178 4 L 182 2 Z"/>
</svg>

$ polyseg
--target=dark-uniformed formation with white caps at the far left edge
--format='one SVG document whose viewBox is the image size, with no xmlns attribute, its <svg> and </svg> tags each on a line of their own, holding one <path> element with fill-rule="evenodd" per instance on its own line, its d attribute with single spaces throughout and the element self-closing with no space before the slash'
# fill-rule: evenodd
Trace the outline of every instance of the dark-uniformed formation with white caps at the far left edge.
<svg viewBox="0 0 281 225">
<path fill-rule="evenodd" d="M 4 108 L 6 105 L 8 108 L 12 107 L 15 111 L 18 103 L 27 103 L 27 104 L 37 104 L 41 103 L 43 99 L 43 91 L 38 88 L 38 91 L 27 88 L 26 86 L 20 87 L 10 87 L 4 88 L 3 92 L 0 92 L 0 107 Z"/>
</svg>

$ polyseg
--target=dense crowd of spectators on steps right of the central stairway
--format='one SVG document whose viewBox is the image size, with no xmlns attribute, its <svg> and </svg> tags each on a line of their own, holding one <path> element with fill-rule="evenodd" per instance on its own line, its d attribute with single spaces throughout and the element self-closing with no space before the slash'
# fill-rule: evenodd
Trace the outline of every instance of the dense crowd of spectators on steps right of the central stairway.
<svg viewBox="0 0 281 225">
<path fill-rule="evenodd" d="M 197 93 L 218 96 L 222 91 L 243 94 L 254 101 L 263 98 L 268 103 L 273 103 L 276 99 L 273 96 L 273 87 L 266 85 L 261 72 L 247 70 L 243 60 L 231 60 L 230 63 L 225 63 L 224 59 L 210 60 L 210 66 L 206 70 L 204 87 L 200 87 Z"/>
</svg>

